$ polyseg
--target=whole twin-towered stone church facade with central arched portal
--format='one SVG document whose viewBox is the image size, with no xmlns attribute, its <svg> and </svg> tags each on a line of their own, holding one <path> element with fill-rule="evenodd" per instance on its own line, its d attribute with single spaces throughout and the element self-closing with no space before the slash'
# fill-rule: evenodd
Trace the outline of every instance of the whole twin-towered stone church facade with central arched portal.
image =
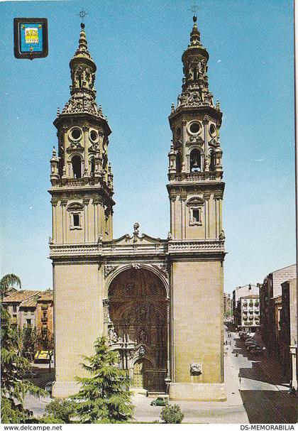
<svg viewBox="0 0 298 431">
<path fill-rule="evenodd" d="M 56 398 L 79 390 L 82 355 L 92 356 L 104 335 L 136 393 L 225 399 L 222 114 L 209 91 L 209 54 L 196 21 L 169 116 L 167 239 L 140 234 L 138 223 L 113 239 L 111 129 L 96 104 L 96 65 L 81 24 L 71 96 L 54 121 L 58 153 L 54 148 L 50 160 Z"/>
</svg>

